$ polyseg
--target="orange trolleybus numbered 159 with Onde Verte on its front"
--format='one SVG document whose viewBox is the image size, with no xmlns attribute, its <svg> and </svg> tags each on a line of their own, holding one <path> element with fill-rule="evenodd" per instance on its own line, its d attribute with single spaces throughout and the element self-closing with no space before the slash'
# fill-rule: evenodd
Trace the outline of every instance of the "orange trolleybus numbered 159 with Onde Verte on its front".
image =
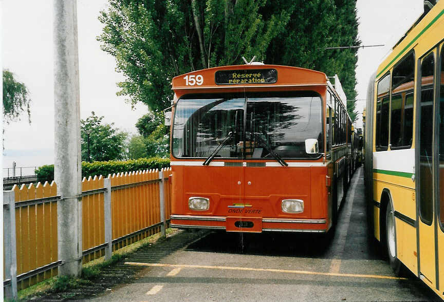
<svg viewBox="0 0 444 302">
<path fill-rule="evenodd" d="M 257 62 L 175 77 L 171 226 L 327 232 L 349 179 L 351 123 L 335 82 Z"/>
</svg>

